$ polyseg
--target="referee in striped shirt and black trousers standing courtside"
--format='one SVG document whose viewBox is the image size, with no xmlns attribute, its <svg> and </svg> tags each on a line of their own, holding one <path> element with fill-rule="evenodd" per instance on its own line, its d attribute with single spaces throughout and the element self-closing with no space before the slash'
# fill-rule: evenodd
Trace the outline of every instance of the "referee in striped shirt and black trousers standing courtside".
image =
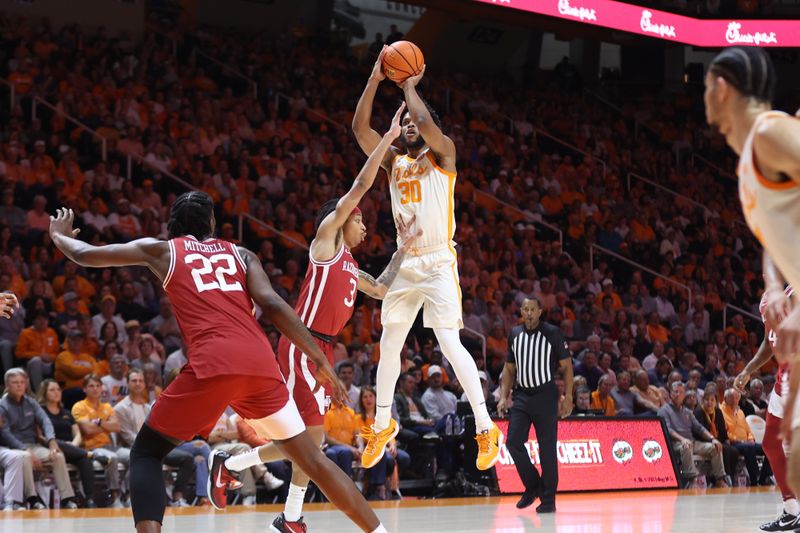
<svg viewBox="0 0 800 533">
<path fill-rule="evenodd" d="M 508 360 L 500 383 L 500 401 L 497 411 L 502 416 L 508 409 L 509 392 L 513 387 L 513 405 L 508 423 L 506 446 L 514 458 L 517 472 L 525 485 L 517 508 L 531 505 L 536 498 L 541 503 L 537 513 L 556 510 L 558 487 L 558 461 L 556 459 L 556 434 L 558 417 L 572 411 L 572 358 L 567 351 L 561 331 L 546 322 L 540 322 L 542 306 L 536 298 L 522 302 L 523 325 L 511 330 L 508 337 Z M 565 397 L 559 413 L 559 393 L 555 377 L 559 366 L 564 375 Z M 525 448 L 531 423 L 539 441 L 539 458 L 542 475 L 531 463 Z"/>
</svg>

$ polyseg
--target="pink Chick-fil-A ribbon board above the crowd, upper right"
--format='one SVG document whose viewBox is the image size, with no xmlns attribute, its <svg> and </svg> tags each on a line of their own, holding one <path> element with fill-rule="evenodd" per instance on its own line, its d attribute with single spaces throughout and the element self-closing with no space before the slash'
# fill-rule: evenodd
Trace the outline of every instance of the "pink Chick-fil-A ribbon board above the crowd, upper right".
<svg viewBox="0 0 800 533">
<path fill-rule="evenodd" d="M 614 0 L 475 0 L 693 46 L 800 46 L 797 20 L 704 20 Z"/>
</svg>

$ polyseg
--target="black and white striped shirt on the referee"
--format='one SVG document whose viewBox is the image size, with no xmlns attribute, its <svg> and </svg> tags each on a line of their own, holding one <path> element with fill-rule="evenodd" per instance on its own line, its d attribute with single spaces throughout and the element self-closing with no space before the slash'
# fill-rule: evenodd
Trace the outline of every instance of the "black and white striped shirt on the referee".
<svg viewBox="0 0 800 533">
<path fill-rule="evenodd" d="M 561 330 L 547 322 L 539 322 L 533 330 L 517 326 L 508 336 L 508 362 L 517 366 L 517 388 L 535 389 L 549 383 L 559 361 L 570 357 Z"/>
</svg>

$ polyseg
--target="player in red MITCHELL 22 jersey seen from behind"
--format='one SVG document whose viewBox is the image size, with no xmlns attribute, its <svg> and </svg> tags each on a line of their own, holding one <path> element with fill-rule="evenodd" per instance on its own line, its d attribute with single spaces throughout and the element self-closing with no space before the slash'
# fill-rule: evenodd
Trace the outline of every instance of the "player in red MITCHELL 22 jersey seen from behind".
<svg viewBox="0 0 800 533">
<path fill-rule="evenodd" d="M 207 436 L 227 406 L 309 474 L 325 495 L 364 531 L 386 530 L 353 482 L 319 450 L 286 389 L 275 354 L 253 314 L 264 315 L 314 361 L 314 378 L 344 388 L 325 354 L 286 302 L 272 290 L 251 251 L 213 237 L 211 198 L 184 193 L 172 205 L 168 241 L 145 238 L 92 246 L 77 240 L 71 209 L 50 217 L 50 235 L 64 255 L 83 266 L 147 266 L 162 282 L 187 348 L 189 362 L 156 401 L 131 448 L 130 487 L 139 533 L 161 531 L 165 488 L 161 464 L 178 443 Z M 225 495 L 235 480 L 218 461 L 209 496 Z"/>
</svg>

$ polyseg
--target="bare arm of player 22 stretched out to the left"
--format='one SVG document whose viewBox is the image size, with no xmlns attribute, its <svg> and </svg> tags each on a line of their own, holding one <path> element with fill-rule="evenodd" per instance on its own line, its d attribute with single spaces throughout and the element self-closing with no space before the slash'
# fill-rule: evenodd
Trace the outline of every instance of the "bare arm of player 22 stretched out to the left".
<svg viewBox="0 0 800 533">
<path fill-rule="evenodd" d="M 75 213 L 61 208 L 50 217 L 50 237 L 67 259 L 81 266 L 104 268 L 140 265 L 149 267 L 162 280 L 169 269 L 169 244 L 145 238 L 123 244 L 93 246 L 76 239 L 79 229 L 73 229 Z"/>
</svg>

